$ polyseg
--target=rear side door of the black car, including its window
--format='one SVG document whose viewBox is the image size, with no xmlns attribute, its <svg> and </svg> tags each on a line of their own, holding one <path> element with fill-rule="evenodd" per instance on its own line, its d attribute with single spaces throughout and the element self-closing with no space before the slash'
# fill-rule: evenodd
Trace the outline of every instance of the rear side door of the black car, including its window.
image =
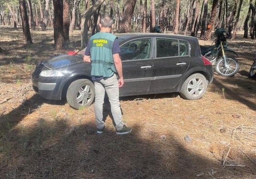
<svg viewBox="0 0 256 179">
<path fill-rule="evenodd" d="M 171 38 L 156 38 L 155 43 L 150 91 L 169 91 L 178 85 L 188 69 L 190 46 L 188 41 Z"/>
</svg>

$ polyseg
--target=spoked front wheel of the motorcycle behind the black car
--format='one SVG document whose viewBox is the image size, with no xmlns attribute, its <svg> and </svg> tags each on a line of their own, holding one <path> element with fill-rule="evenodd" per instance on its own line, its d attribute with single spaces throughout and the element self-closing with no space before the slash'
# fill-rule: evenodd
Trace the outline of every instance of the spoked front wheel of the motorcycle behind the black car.
<svg viewBox="0 0 256 179">
<path fill-rule="evenodd" d="M 215 65 L 215 71 L 223 77 L 232 77 L 238 72 L 240 64 L 235 57 L 226 56 L 226 61 L 227 66 L 225 67 L 224 59 L 219 58 Z"/>
</svg>

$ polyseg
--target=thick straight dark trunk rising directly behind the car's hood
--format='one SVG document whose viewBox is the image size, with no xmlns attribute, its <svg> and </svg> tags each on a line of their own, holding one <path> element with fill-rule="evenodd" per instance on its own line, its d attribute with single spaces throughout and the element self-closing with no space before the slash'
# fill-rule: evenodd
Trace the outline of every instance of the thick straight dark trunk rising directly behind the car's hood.
<svg viewBox="0 0 256 179">
<path fill-rule="evenodd" d="M 54 7 L 54 45 L 56 50 L 63 49 L 63 0 L 52 0 Z"/>
</svg>

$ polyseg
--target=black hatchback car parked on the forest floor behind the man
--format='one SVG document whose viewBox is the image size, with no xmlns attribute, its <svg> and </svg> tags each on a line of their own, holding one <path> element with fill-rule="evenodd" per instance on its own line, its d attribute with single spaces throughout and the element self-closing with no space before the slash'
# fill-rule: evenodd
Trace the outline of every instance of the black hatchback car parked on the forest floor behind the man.
<svg viewBox="0 0 256 179">
<path fill-rule="evenodd" d="M 159 33 L 116 34 L 120 41 L 124 86 L 120 97 L 180 92 L 189 100 L 201 98 L 213 81 L 213 67 L 201 55 L 198 39 Z M 94 101 L 91 66 L 84 50 L 55 56 L 37 65 L 33 89 L 53 100 L 66 98 L 79 109 Z"/>
</svg>

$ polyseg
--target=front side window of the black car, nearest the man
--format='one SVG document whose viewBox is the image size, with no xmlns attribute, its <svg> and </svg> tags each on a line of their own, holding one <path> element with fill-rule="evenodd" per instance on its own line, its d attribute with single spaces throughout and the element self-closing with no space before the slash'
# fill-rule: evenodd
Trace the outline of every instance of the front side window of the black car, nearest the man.
<svg viewBox="0 0 256 179">
<path fill-rule="evenodd" d="M 151 39 L 136 39 L 120 46 L 120 56 L 125 60 L 142 60 L 150 57 Z"/>
</svg>

